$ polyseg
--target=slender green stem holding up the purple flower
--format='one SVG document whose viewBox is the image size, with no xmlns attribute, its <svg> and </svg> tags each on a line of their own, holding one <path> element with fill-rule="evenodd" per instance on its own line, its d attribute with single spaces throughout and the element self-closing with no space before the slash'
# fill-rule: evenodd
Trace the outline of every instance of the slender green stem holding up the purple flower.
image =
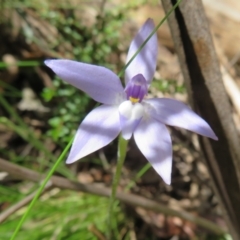
<svg viewBox="0 0 240 240">
<path fill-rule="evenodd" d="M 108 208 L 108 234 L 107 239 L 111 239 L 112 235 L 112 215 L 113 215 L 113 206 L 114 201 L 116 197 L 117 187 L 121 176 L 122 166 L 127 154 L 127 145 L 128 141 L 123 139 L 123 137 L 120 135 L 118 139 L 118 161 L 117 161 L 117 168 L 116 172 L 113 177 L 113 183 L 112 183 L 112 192 L 110 196 L 109 201 L 109 208 Z"/>
</svg>

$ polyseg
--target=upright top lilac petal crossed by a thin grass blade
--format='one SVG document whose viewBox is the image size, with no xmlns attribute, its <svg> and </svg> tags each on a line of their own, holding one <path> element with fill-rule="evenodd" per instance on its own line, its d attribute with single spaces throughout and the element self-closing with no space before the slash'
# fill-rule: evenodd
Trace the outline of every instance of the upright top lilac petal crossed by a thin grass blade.
<svg viewBox="0 0 240 240">
<path fill-rule="evenodd" d="M 126 62 L 132 58 L 153 29 L 153 20 L 148 19 L 131 42 Z M 125 71 L 125 85 L 127 85 L 128 81 L 130 81 L 135 75 L 140 73 L 145 77 L 148 84 L 151 83 L 156 70 L 157 49 L 158 41 L 157 34 L 155 33 L 127 67 Z"/>
</svg>

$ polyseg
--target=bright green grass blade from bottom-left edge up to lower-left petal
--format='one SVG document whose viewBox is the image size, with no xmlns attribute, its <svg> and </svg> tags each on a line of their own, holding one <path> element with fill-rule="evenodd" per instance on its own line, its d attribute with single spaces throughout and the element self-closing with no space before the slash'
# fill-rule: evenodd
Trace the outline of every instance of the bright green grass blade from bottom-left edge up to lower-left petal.
<svg viewBox="0 0 240 240">
<path fill-rule="evenodd" d="M 57 159 L 56 163 L 53 165 L 53 167 L 51 168 L 51 170 L 49 171 L 48 175 L 46 176 L 46 178 L 44 179 L 42 185 L 40 186 L 40 188 L 38 189 L 35 197 L 33 198 L 33 200 L 31 201 L 31 203 L 28 205 L 27 210 L 25 211 L 24 215 L 22 216 L 21 220 L 19 221 L 12 237 L 10 240 L 14 240 L 15 237 L 17 236 L 17 233 L 19 232 L 20 228 L 22 227 L 24 221 L 27 218 L 27 215 L 29 214 L 29 212 L 31 211 L 33 205 L 35 204 L 35 202 L 37 201 L 37 199 L 39 198 L 39 196 L 41 195 L 41 192 L 43 191 L 43 189 L 46 187 L 47 183 L 49 182 L 51 176 L 53 175 L 53 173 L 55 172 L 55 170 L 57 169 L 58 165 L 61 163 L 61 161 L 63 160 L 63 158 L 65 157 L 65 154 L 67 153 L 67 151 L 69 150 L 71 144 L 72 144 L 73 139 L 68 143 L 68 145 L 65 147 L 65 149 L 63 150 L 62 154 L 59 156 L 59 158 Z"/>
</svg>

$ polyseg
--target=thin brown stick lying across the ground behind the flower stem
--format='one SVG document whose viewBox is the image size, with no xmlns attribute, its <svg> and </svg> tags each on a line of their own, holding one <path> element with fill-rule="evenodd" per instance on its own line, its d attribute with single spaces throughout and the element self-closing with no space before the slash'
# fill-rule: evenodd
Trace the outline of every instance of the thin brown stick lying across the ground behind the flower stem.
<svg viewBox="0 0 240 240">
<path fill-rule="evenodd" d="M 40 173 L 27 169 L 25 167 L 20 167 L 16 164 L 10 163 L 2 158 L 0 158 L 0 170 L 8 172 L 15 178 L 22 180 L 30 180 L 34 182 L 39 182 L 44 179 L 44 175 Z M 111 189 L 107 187 L 99 187 L 96 184 L 82 184 L 74 181 L 70 181 L 63 177 L 53 176 L 51 178 L 51 184 L 53 187 L 58 187 L 61 189 L 68 189 L 73 191 L 81 191 L 86 193 L 91 193 L 103 197 L 109 197 Z M 199 225 L 215 234 L 221 235 L 226 233 L 222 227 L 219 227 L 215 223 L 206 220 L 202 217 L 196 217 L 185 211 L 177 211 L 167 207 L 166 205 L 157 203 L 155 201 L 149 200 L 144 197 L 140 197 L 134 194 L 128 194 L 124 192 L 117 192 L 116 198 L 126 204 L 130 204 L 134 207 L 142 207 L 148 210 L 160 212 L 166 215 L 176 216 L 192 223 Z M 1 215 L 0 215 L 1 219 Z"/>
</svg>

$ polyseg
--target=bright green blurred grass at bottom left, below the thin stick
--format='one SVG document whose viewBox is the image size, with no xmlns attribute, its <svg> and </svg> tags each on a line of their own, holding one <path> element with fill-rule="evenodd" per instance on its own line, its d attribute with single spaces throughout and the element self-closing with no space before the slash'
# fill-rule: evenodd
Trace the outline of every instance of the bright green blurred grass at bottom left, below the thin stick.
<svg viewBox="0 0 240 240">
<path fill-rule="evenodd" d="M 53 189 L 36 203 L 17 239 L 97 240 L 98 238 L 90 231 L 90 228 L 94 226 L 103 234 L 106 232 L 108 203 L 107 198 Z M 10 239 L 11 229 L 15 228 L 24 211 L 25 209 L 21 209 L 8 221 L 1 224 L 1 240 Z M 120 207 L 116 206 L 113 225 L 123 225 L 124 218 Z M 114 239 L 118 239 L 119 230 L 114 229 L 114 233 L 116 234 Z"/>
</svg>

